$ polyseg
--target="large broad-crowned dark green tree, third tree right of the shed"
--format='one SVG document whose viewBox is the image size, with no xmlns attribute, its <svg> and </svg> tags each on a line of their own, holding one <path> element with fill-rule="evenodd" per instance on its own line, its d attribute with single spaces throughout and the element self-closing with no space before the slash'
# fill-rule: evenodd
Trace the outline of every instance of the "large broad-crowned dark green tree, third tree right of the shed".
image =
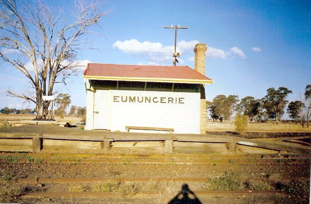
<svg viewBox="0 0 311 204">
<path fill-rule="evenodd" d="M 268 117 L 275 119 L 277 123 L 284 114 L 284 108 L 288 103 L 286 97 L 290 93 L 293 92 L 285 87 L 279 87 L 278 90 L 269 88 L 267 89 L 267 95 L 262 98 L 263 107 L 266 109 Z"/>
</svg>

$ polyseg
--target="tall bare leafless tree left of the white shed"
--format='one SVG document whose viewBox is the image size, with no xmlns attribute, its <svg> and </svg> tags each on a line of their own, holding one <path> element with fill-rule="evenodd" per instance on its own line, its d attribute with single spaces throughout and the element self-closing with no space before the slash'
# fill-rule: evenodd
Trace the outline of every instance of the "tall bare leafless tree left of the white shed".
<svg viewBox="0 0 311 204">
<path fill-rule="evenodd" d="M 53 96 L 54 85 L 65 84 L 75 73 L 80 66 L 76 63 L 78 51 L 85 45 L 83 36 L 108 13 L 101 11 L 97 2 L 74 1 L 74 5 L 75 20 L 66 23 L 62 12 L 54 17 L 39 0 L 0 0 L 0 58 L 27 77 L 34 90 L 32 95 L 11 90 L 7 94 L 34 102 L 38 119 L 46 118 L 49 106 L 42 96 Z"/>
</svg>

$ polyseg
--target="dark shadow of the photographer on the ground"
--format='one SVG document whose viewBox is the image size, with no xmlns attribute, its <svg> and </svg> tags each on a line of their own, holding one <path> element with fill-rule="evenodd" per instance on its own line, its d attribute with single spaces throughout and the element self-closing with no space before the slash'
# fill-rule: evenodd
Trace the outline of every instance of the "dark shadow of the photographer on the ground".
<svg viewBox="0 0 311 204">
<path fill-rule="evenodd" d="M 168 204 L 202 204 L 187 184 L 183 184 L 182 190 Z"/>
</svg>

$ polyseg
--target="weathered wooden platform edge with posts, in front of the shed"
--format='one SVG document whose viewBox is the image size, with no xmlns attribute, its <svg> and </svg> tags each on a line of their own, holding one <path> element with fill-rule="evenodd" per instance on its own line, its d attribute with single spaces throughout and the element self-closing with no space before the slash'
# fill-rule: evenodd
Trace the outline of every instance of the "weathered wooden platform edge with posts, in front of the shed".
<svg viewBox="0 0 311 204">
<path fill-rule="evenodd" d="M 310 149 L 292 147 L 290 145 L 280 145 L 271 142 L 261 142 L 257 140 L 219 136 L 219 135 L 194 135 L 194 134 L 151 134 L 151 133 L 109 133 L 96 132 L 88 134 L 87 131 L 81 131 L 80 135 L 70 134 L 29 134 L 29 133 L 0 133 L 0 151 L 7 152 L 34 152 L 39 153 L 45 147 L 70 147 L 80 149 L 101 148 L 109 151 L 114 142 L 132 142 L 132 147 L 137 147 L 137 142 L 148 143 L 152 141 L 162 141 L 163 150 L 166 153 L 173 153 L 174 149 L 187 148 L 188 151 L 195 151 L 196 148 L 210 148 L 207 144 L 223 144 L 225 153 L 236 154 L 239 146 L 261 148 L 273 150 L 276 153 L 299 153 L 310 154 Z M 54 142 L 53 142 L 54 141 Z M 84 141 L 84 142 L 83 142 Z M 93 142 L 93 143 L 92 143 Z M 98 143 L 94 143 L 98 142 Z M 55 144 L 55 145 L 54 145 Z M 185 144 L 184 146 L 182 144 Z M 189 145 L 193 144 L 193 145 Z M 199 145 L 206 144 L 206 145 Z M 130 146 L 129 146 L 130 147 Z M 141 146 L 140 146 L 141 147 Z M 192 148 L 192 149 L 191 149 Z M 241 149 L 241 148 L 240 148 Z"/>
</svg>

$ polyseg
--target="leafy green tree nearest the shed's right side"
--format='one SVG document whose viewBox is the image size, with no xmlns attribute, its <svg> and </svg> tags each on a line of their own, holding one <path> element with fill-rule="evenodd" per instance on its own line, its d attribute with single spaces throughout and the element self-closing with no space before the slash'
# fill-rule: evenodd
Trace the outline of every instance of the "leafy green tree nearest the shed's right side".
<svg viewBox="0 0 311 204">
<path fill-rule="evenodd" d="M 213 102 L 208 103 L 207 108 L 213 120 L 229 120 L 238 102 L 238 96 L 230 95 L 226 97 L 225 95 L 218 95 L 213 99 Z"/>
</svg>

